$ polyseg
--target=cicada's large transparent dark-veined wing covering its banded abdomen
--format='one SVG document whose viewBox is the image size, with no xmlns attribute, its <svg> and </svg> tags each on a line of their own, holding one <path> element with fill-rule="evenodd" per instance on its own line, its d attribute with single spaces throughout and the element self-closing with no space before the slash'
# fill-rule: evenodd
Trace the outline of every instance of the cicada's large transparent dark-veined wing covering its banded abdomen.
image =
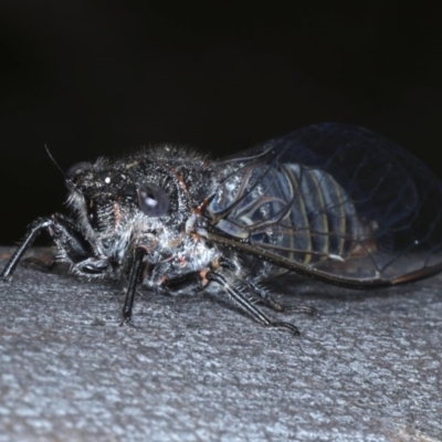
<svg viewBox="0 0 442 442">
<path fill-rule="evenodd" d="M 203 213 L 210 238 L 246 255 L 350 286 L 442 270 L 441 182 L 369 130 L 308 126 L 217 170 L 221 183 Z"/>
</svg>

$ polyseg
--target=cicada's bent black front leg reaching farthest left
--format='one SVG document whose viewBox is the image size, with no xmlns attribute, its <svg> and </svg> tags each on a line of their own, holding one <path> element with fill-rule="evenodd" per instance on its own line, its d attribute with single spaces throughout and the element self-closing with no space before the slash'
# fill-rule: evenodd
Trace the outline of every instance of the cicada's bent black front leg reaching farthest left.
<svg viewBox="0 0 442 442">
<path fill-rule="evenodd" d="M 50 234 L 59 250 L 73 263 L 78 263 L 93 255 L 91 244 L 75 223 L 70 218 L 55 213 L 52 217 L 39 218 L 31 224 L 24 240 L 1 272 L 1 280 L 7 281 L 12 277 L 20 260 L 42 231 Z"/>
</svg>

